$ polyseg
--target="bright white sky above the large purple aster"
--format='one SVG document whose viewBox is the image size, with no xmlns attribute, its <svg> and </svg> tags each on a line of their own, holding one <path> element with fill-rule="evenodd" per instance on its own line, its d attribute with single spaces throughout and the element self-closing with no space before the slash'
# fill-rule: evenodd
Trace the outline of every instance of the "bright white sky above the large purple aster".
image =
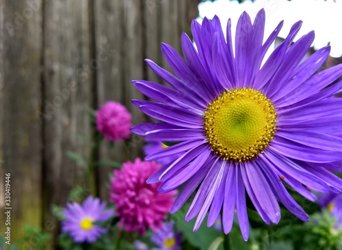
<svg viewBox="0 0 342 250">
<path fill-rule="evenodd" d="M 282 38 L 289 34 L 293 23 L 302 20 L 302 28 L 296 39 L 315 30 L 313 42 L 315 49 L 320 49 L 330 42 L 330 55 L 334 58 L 342 56 L 342 0 L 255 0 L 254 3 L 247 0 L 241 4 L 237 0 L 216 0 L 213 3 L 206 1 L 198 5 L 200 11 L 198 21 L 201 21 L 204 16 L 213 18 L 216 14 L 223 25 L 228 18 L 231 18 L 232 33 L 235 34 L 237 20 L 241 13 L 248 12 L 254 21 L 261 8 L 264 8 L 266 13 L 265 38 L 282 20 L 285 21 L 279 34 Z"/>
</svg>

